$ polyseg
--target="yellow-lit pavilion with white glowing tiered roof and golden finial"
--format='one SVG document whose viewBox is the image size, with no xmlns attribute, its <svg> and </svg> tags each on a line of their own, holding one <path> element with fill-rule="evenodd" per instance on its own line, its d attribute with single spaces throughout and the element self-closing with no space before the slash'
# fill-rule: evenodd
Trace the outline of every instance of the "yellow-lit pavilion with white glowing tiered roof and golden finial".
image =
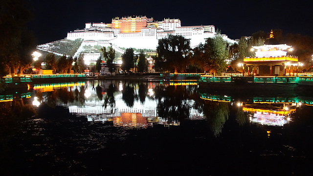
<svg viewBox="0 0 313 176">
<path fill-rule="evenodd" d="M 254 76 L 297 75 L 298 58 L 287 55 L 287 50 L 291 51 L 291 46 L 279 44 L 277 39 L 274 39 L 273 31 L 264 45 L 252 46 L 252 50 L 255 51 L 255 57 L 244 58 L 244 64 L 248 66 L 248 72 L 249 66 L 252 66 L 251 73 Z"/>
</svg>

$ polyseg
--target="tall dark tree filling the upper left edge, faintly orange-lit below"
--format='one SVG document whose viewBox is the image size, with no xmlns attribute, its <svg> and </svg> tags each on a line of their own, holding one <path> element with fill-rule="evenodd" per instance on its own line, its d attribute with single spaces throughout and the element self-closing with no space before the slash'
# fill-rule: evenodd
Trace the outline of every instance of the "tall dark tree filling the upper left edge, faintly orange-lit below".
<svg viewBox="0 0 313 176">
<path fill-rule="evenodd" d="M 31 53 L 36 49 L 34 36 L 26 28 L 30 12 L 22 0 L 0 1 L 0 76 L 11 73 L 14 77 L 30 67 Z"/>
</svg>

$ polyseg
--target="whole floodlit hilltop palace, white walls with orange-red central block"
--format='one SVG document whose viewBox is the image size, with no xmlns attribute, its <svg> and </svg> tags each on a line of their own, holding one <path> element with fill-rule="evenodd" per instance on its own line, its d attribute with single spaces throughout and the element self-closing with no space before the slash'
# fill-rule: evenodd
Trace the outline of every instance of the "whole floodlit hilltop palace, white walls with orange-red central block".
<svg viewBox="0 0 313 176">
<path fill-rule="evenodd" d="M 191 47 L 215 35 L 213 25 L 181 26 L 179 19 L 155 21 L 145 16 L 114 18 L 111 23 L 86 23 L 85 29 L 67 33 L 67 39 L 84 39 L 83 44 L 112 44 L 124 48 L 156 49 L 158 39 L 181 35 L 190 39 Z M 235 41 L 223 35 L 228 42 Z"/>
</svg>

